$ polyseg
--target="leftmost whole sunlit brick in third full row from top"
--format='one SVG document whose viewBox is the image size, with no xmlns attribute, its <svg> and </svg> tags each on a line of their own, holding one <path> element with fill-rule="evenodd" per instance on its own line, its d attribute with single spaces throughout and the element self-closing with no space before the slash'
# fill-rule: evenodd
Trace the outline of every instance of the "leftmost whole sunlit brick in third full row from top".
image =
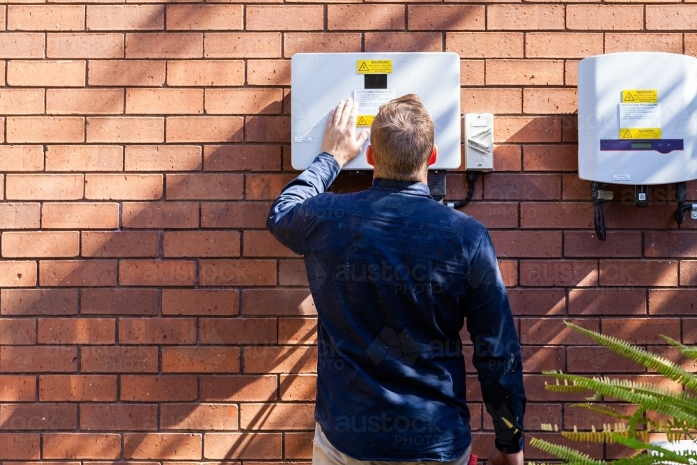
<svg viewBox="0 0 697 465">
<path fill-rule="evenodd" d="M 24 87 L 82 87 L 85 85 L 85 62 L 8 61 L 7 83 Z"/>
</svg>

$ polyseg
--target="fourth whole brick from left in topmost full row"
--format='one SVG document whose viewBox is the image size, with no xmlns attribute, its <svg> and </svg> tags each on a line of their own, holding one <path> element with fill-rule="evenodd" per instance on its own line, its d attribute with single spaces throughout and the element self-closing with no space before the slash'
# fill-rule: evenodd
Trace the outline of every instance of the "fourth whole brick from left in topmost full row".
<svg viewBox="0 0 697 465">
<path fill-rule="evenodd" d="M 321 5 L 247 6 L 247 31 L 312 31 L 323 29 Z M 329 29 L 332 29 L 329 26 Z"/>
</svg>

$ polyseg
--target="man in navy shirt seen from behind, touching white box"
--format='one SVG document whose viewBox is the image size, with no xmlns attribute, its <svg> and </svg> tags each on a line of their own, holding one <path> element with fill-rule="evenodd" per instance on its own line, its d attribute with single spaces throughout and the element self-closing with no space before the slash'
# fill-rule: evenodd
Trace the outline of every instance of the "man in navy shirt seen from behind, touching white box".
<svg viewBox="0 0 697 465">
<path fill-rule="evenodd" d="M 470 414 L 459 331 L 496 431 L 494 465 L 523 464 L 518 335 L 487 229 L 429 195 L 434 124 L 408 95 L 380 107 L 372 188 L 325 192 L 362 151 L 356 105 L 329 114 L 322 153 L 285 186 L 267 227 L 305 256 L 319 315 L 314 464 L 467 464 Z"/>
</svg>

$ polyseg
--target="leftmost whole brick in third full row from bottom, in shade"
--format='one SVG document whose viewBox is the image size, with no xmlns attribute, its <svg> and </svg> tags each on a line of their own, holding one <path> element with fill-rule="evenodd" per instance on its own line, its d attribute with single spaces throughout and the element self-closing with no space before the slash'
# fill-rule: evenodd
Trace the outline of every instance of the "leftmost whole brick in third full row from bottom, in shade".
<svg viewBox="0 0 697 465">
<path fill-rule="evenodd" d="M 116 400 L 116 376 L 39 376 L 40 402 L 109 402 Z"/>
</svg>

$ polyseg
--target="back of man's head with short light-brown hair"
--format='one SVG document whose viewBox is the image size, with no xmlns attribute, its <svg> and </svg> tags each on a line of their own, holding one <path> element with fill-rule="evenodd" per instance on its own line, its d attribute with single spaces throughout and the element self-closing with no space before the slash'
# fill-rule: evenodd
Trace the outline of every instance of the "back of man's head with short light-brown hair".
<svg viewBox="0 0 697 465">
<path fill-rule="evenodd" d="M 410 93 L 382 105 L 370 128 L 370 145 L 376 176 L 420 178 L 434 147 L 434 122 L 421 99 Z"/>
</svg>

